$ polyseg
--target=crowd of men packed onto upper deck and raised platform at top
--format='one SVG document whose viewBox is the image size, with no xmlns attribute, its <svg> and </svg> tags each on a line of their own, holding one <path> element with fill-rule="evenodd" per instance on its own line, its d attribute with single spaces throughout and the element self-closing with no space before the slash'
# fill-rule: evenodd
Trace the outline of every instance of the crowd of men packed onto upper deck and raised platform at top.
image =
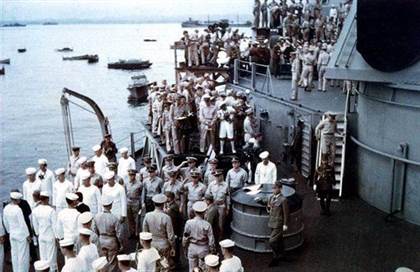
<svg viewBox="0 0 420 272">
<path fill-rule="evenodd" d="M 255 0 L 254 39 L 223 24 L 193 33 L 184 31 L 181 42 L 186 48 L 185 63 L 232 68 L 235 59 L 254 62 L 267 65 L 275 77 L 291 77 L 291 100 L 298 99 L 299 87 L 325 92 L 326 67 L 351 2 L 344 1 L 339 7 L 332 5 L 326 12 L 320 0 L 315 3 Z M 243 68 L 249 69 L 246 65 Z M 318 79 L 318 86 L 314 85 L 314 79 Z M 339 87 L 340 83 L 331 80 L 330 86 Z M 353 88 L 354 82 L 344 82 L 343 92 Z"/>
</svg>

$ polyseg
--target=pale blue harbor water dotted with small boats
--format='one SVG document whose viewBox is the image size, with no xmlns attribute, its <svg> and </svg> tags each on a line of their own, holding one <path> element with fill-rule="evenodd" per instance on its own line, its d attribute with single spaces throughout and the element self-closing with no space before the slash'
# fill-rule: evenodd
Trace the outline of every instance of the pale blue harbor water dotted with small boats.
<svg viewBox="0 0 420 272">
<path fill-rule="evenodd" d="M 149 59 L 151 69 L 141 71 L 149 81 L 173 82 L 174 57 L 169 46 L 181 35 L 180 24 L 0 28 L 0 59 L 11 60 L 11 65 L 5 65 L 6 75 L 0 77 L 0 200 L 7 198 L 10 189 L 22 187 L 25 168 L 36 167 L 39 158 L 46 158 L 52 170 L 66 165 L 59 103 L 64 87 L 95 100 L 110 119 L 114 140 L 121 141 L 120 147 L 128 145 L 129 133 L 141 130 L 140 122 L 147 115 L 144 106 L 127 103 L 130 77 L 140 71 L 109 70 L 107 63 Z M 55 51 L 62 47 L 74 51 Z M 27 52 L 18 53 L 18 48 Z M 99 62 L 62 60 L 83 54 L 98 54 Z M 70 107 L 75 143 L 83 155 L 92 155 L 91 147 L 101 141 L 96 117 L 75 105 Z"/>
</svg>

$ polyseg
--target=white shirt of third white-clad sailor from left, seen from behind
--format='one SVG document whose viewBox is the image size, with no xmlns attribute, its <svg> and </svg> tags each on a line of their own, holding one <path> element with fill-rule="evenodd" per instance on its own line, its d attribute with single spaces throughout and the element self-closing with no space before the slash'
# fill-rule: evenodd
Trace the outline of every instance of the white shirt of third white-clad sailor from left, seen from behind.
<svg viewBox="0 0 420 272">
<path fill-rule="evenodd" d="M 79 235 L 78 218 L 80 213 L 76 209 L 65 208 L 58 213 L 56 234 L 59 239 L 69 238 L 76 241 Z"/>
</svg>

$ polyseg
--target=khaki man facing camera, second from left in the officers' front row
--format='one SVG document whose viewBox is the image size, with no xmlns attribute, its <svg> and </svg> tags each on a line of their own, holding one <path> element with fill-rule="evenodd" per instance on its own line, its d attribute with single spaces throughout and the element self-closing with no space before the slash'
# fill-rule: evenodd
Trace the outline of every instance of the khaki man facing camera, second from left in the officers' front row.
<svg viewBox="0 0 420 272">
<path fill-rule="evenodd" d="M 152 198 L 154 195 L 162 192 L 163 180 L 157 176 L 156 166 L 152 165 L 148 168 L 149 177 L 143 182 L 142 192 L 142 210 L 151 212 L 154 209 Z"/>
</svg>

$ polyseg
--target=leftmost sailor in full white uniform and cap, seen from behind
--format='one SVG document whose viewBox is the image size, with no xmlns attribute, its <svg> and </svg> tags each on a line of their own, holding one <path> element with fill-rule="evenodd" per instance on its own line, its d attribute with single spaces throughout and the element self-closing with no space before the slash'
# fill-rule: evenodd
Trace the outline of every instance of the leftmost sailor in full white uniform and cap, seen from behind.
<svg viewBox="0 0 420 272">
<path fill-rule="evenodd" d="M 12 266 L 14 272 L 29 271 L 29 230 L 19 202 L 22 194 L 10 193 L 11 202 L 3 210 L 4 228 L 9 233 Z"/>
</svg>

